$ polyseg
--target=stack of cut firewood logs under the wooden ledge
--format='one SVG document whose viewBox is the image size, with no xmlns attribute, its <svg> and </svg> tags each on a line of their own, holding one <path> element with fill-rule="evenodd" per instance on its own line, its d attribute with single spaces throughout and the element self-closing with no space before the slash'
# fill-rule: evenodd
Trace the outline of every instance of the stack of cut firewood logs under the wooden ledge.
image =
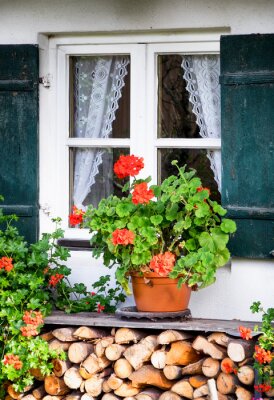
<svg viewBox="0 0 274 400">
<path fill-rule="evenodd" d="M 50 376 L 33 370 L 36 384 L 6 400 L 252 400 L 254 341 L 220 332 L 60 328 L 42 335 L 67 360 Z M 269 400 L 273 392 L 266 394 Z"/>
</svg>

